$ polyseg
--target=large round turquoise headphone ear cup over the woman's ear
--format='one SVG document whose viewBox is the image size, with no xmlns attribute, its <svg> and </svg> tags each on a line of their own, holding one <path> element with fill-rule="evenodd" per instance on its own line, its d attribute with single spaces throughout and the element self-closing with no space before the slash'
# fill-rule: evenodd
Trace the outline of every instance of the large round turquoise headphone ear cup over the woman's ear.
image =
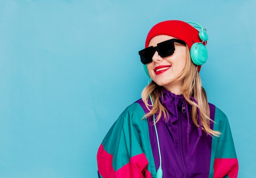
<svg viewBox="0 0 256 178">
<path fill-rule="evenodd" d="M 207 61 L 208 51 L 202 43 L 194 43 L 190 49 L 191 60 L 195 65 L 202 65 Z"/>
</svg>

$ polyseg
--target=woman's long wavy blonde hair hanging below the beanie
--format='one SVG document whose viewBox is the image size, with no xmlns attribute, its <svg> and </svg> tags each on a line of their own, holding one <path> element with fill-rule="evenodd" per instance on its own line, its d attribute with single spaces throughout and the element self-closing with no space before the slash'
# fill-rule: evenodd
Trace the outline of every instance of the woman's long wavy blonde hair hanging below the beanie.
<svg viewBox="0 0 256 178">
<path fill-rule="evenodd" d="M 211 136 L 220 136 L 220 132 L 211 130 L 210 122 L 214 122 L 210 119 L 210 108 L 207 101 L 207 95 L 202 87 L 201 78 L 198 73 L 198 66 L 193 64 L 190 57 L 189 47 L 186 46 L 186 65 L 180 74 L 177 77 L 177 81 L 183 80 L 183 86 L 181 90 L 183 91 L 183 96 L 186 101 L 192 105 L 192 120 L 194 124 L 199 127 L 198 124 L 198 109 L 200 109 L 201 114 L 201 123 L 202 130 L 204 130 L 207 134 Z M 168 120 L 168 114 L 166 108 L 160 103 L 159 97 L 163 95 L 162 86 L 158 86 L 154 81 L 151 81 L 148 86 L 144 88 L 141 94 L 141 98 L 144 101 L 146 108 L 150 111 L 148 114 L 144 116 L 144 118 L 148 118 L 153 114 L 158 114 L 155 122 L 157 123 L 161 116 L 164 115 L 164 119 Z M 154 105 L 148 104 L 148 100 L 150 96 L 153 100 Z M 190 97 L 193 96 L 198 104 L 190 100 Z M 151 108 L 151 109 L 150 109 Z M 144 119 L 143 118 L 143 119 Z"/>
</svg>

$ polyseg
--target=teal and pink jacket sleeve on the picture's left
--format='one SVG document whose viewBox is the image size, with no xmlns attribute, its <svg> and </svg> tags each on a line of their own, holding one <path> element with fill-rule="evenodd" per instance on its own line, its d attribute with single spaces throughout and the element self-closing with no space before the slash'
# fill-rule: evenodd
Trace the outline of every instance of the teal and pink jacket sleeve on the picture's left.
<svg viewBox="0 0 256 178">
<path fill-rule="evenodd" d="M 131 105 L 112 125 L 97 153 L 99 178 L 151 178 L 142 147 L 146 139 L 142 127 L 147 126 L 147 120 L 141 120 L 143 115 Z"/>
</svg>

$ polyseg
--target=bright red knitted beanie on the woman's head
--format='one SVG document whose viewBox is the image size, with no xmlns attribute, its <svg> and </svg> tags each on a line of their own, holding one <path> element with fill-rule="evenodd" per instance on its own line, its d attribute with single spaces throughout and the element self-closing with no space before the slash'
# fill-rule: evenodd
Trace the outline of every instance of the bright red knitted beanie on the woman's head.
<svg viewBox="0 0 256 178">
<path fill-rule="evenodd" d="M 146 38 L 145 48 L 150 40 L 157 35 L 168 35 L 183 40 L 189 46 L 189 50 L 194 43 L 202 42 L 199 31 L 190 24 L 180 20 L 167 20 L 152 27 Z M 198 66 L 198 72 L 201 66 Z"/>
</svg>

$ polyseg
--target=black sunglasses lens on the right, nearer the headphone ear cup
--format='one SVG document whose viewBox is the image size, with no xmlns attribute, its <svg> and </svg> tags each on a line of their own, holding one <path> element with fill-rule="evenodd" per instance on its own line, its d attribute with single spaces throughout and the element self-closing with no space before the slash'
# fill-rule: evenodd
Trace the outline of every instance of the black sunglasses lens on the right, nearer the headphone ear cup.
<svg viewBox="0 0 256 178">
<path fill-rule="evenodd" d="M 166 41 L 157 44 L 158 47 L 158 53 L 161 57 L 167 57 L 174 53 L 175 47 L 174 43 L 172 41 Z"/>
</svg>

